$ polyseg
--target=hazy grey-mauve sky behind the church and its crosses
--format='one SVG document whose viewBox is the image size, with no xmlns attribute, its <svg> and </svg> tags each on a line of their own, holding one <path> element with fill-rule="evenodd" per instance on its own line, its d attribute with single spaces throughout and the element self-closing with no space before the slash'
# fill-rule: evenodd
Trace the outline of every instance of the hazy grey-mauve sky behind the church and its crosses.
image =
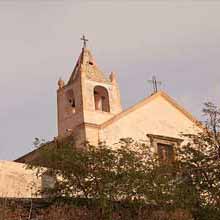
<svg viewBox="0 0 220 220">
<path fill-rule="evenodd" d="M 149 96 L 153 75 L 199 120 L 220 103 L 220 2 L 0 0 L 0 160 L 57 136 L 57 81 L 68 80 L 85 34 L 115 71 L 124 108 Z"/>
</svg>

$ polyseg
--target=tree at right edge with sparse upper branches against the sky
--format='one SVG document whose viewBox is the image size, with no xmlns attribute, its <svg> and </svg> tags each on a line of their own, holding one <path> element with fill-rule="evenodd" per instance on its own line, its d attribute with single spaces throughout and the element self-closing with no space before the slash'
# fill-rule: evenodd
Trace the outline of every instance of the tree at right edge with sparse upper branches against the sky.
<svg viewBox="0 0 220 220">
<path fill-rule="evenodd" d="M 175 187 L 177 196 L 198 219 L 217 219 L 220 215 L 220 110 L 209 102 L 205 103 L 203 113 L 205 122 L 201 132 L 184 134 L 188 143 L 178 149 Z"/>
</svg>

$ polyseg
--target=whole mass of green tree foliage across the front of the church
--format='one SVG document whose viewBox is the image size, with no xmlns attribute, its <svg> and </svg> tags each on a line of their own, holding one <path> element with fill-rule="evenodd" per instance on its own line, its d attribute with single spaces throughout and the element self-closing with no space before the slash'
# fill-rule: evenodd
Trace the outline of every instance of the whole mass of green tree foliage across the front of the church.
<svg viewBox="0 0 220 220">
<path fill-rule="evenodd" d="M 131 138 L 114 148 L 105 143 L 75 146 L 71 137 L 55 141 L 53 147 L 40 150 L 38 162 L 47 168 L 38 168 L 39 175 L 55 178 L 53 187 L 41 193 L 93 200 L 102 219 L 110 219 L 115 202 L 128 202 L 136 214 L 153 205 L 167 212 L 187 211 L 193 219 L 218 219 L 220 111 L 206 103 L 203 112 L 201 132 L 183 135 L 187 144 L 176 149 L 172 163 L 161 163 L 150 146 Z"/>
</svg>

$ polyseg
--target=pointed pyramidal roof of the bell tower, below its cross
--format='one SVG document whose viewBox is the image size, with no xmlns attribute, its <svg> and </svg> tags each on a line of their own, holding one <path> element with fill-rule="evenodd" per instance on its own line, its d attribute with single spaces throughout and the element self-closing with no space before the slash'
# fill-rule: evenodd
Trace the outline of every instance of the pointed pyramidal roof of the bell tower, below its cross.
<svg viewBox="0 0 220 220">
<path fill-rule="evenodd" d="M 82 48 L 82 52 L 78 58 L 78 61 L 73 69 L 73 72 L 67 84 L 71 84 L 76 78 L 76 76 L 80 74 L 81 65 L 85 67 L 85 74 L 88 79 L 97 82 L 110 82 L 108 79 L 106 79 L 103 72 L 97 67 L 91 51 L 88 48 Z"/>
</svg>

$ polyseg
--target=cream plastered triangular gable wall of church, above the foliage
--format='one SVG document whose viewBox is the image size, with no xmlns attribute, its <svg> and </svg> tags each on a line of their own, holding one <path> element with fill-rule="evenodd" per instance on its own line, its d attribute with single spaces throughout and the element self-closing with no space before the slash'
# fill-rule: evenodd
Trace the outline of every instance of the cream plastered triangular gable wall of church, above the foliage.
<svg viewBox="0 0 220 220">
<path fill-rule="evenodd" d="M 100 139 L 109 144 L 120 138 L 146 140 L 147 134 L 180 138 L 200 130 L 198 121 L 164 92 L 144 99 L 101 126 Z"/>
</svg>

